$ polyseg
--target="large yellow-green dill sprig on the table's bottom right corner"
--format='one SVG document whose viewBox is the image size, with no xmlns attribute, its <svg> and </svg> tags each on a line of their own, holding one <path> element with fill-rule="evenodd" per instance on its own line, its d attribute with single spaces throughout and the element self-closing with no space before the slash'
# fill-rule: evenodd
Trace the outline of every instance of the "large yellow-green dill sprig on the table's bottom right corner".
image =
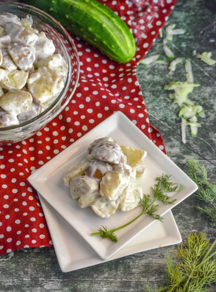
<svg viewBox="0 0 216 292">
<path fill-rule="evenodd" d="M 215 244 L 216 239 L 209 246 L 204 232 L 188 234 L 185 247 L 178 246 L 180 262 L 174 265 L 167 251 L 166 279 L 156 288 L 150 288 L 147 282 L 147 292 L 206 292 L 207 285 L 216 282 L 216 251 L 211 253 Z"/>
</svg>

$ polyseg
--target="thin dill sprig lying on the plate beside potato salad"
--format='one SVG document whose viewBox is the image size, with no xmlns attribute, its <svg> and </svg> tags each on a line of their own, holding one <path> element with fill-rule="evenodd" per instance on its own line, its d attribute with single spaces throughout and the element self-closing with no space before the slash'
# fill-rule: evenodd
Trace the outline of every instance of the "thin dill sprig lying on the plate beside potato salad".
<svg viewBox="0 0 216 292">
<path fill-rule="evenodd" d="M 133 220 L 124 224 L 118 228 L 113 228 L 111 230 L 107 230 L 107 227 L 103 227 L 103 229 L 99 228 L 99 232 L 91 233 L 91 235 L 100 235 L 103 239 L 107 238 L 113 242 L 117 242 L 118 238 L 114 234 L 115 231 L 120 230 L 129 224 L 133 223 L 137 220 L 141 215 L 147 214 L 151 219 L 162 221 L 163 218 L 155 214 L 155 212 L 159 208 L 159 204 L 155 204 L 155 201 L 160 201 L 162 204 L 174 204 L 176 199 L 170 201 L 170 197 L 167 195 L 169 192 L 178 192 L 182 190 L 183 185 L 178 186 L 177 183 L 174 183 L 173 180 L 170 178 L 171 175 L 162 174 L 161 177 L 157 177 L 155 180 L 158 182 L 151 187 L 152 193 L 154 195 L 154 199 L 151 198 L 149 194 L 143 194 L 143 198 L 140 200 L 138 207 L 143 208 L 143 211 Z"/>
</svg>

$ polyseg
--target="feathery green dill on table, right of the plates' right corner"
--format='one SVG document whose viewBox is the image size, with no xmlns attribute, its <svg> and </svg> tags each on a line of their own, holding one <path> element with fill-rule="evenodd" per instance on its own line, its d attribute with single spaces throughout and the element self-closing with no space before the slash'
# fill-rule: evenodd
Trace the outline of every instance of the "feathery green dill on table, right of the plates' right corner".
<svg viewBox="0 0 216 292">
<path fill-rule="evenodd" d="M 193 157 L 187 159 L 187 175 L 198 185 L 196 197 L 206 204 L 197 208 L 208 214 L 211 217 L 211 225 L 216 227 L 216 185 L 209 182 L 205 166 Z"/>
</svg>

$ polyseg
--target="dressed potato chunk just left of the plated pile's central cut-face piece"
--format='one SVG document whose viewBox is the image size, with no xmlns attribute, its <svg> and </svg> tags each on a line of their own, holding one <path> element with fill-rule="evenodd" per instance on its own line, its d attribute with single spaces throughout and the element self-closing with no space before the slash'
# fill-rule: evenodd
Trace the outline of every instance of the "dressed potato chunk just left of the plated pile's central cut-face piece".
<svg viewBox="0 0 216 292">
<path fill-rule="evenodd" d="M 82 194 L 99 190 L 99 183 L 88 176 L 77 176 L 69 182 L 70 193 L 73 199 L 78 199 Z"/>
</svg>

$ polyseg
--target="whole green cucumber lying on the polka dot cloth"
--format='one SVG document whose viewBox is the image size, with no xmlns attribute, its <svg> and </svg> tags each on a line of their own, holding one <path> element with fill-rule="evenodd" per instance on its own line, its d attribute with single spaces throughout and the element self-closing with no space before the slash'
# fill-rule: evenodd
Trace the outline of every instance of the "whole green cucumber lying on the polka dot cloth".
<svg viewBox="0 0 216 292">
<path fill-rule="evenodd" d="M 129 28 L 110 8 L 96 0 L 25 0 L 58 20 L 69 32 L 99 48 L 110 59 L 129 62 L 136 53 Z"/>
</svg>

